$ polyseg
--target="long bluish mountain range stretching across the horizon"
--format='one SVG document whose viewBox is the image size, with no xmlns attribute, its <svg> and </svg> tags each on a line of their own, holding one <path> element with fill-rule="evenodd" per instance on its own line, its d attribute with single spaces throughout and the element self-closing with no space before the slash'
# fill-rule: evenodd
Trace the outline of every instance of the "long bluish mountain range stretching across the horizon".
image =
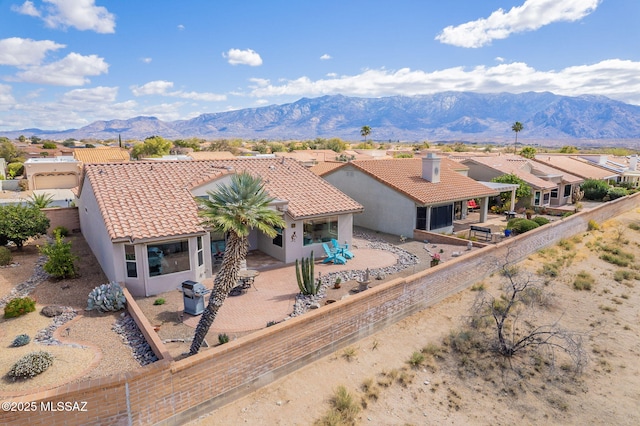
<svg viewBox="0 0 640 426">
<path fill-rule="evenodd" d="M 304 140 L 339 137 L 361 140 L 363 126 L 370 139 L 391 142 L 470 141 L 509 143 L 513 123 L 524 129 L 519 141 L 559 144 L 640 142 L 640 106 L 604 96 L 560 96 L 549 92 L 479 94 L 443 92 L 423 96 L 357 98 L 342 95 L 302 98 L 296 102 L 202 114 L 190 120 L 155 117 L 96 121 L 79 129 L 23 129 L 4 136 L 38 136 L 54 140 L 243 138 Z"/>
</svg>

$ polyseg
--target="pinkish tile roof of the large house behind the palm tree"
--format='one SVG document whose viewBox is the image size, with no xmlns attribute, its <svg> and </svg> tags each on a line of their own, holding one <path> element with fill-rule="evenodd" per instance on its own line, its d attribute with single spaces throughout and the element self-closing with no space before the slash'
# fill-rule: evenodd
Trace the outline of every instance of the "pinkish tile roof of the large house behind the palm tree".
<svg viewBox="0 0 640 426">
<path fill-rule="evenodd" d="M 83 185 L 93 188 L 112 240 L 164 238 L 204 231 L 190 189 L 245 170 L 262 176 L 271 197 L 287 200 L 294 219 L 362 211 L 298 162 L 274 158 L 90 164 Z"/>
</svg>

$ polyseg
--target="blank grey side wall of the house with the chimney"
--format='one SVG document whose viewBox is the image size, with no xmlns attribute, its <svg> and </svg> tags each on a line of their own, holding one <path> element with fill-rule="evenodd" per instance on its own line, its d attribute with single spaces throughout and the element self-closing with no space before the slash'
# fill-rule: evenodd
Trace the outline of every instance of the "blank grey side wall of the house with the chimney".
<svg viewBox="0 0 640 426">
<path fill-rule="evenodd" d="M 364 207 L 364 212 L 353 218 L 354 225 L 394 235 L 413 234 L 416 226 L 413 200 L 349 166 L 324 178 Z"/>
</svg>

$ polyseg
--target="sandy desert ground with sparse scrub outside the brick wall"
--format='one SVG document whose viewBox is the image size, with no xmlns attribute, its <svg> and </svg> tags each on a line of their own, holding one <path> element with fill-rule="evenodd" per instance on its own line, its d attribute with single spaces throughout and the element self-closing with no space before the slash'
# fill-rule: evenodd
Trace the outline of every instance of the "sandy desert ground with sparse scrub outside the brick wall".
<svg viewBox="0 0 640 426">
<path fill-rule="evenodd" d="M 569 255 L 545 287 L 552 299 L 539 320 L 559 321 L 583 337 L 587 365 L 570 380 L 542 375 L 514 380 L 499 369 L 469 374 L 451 355 L 428 357 L 425 366 L 410 368 L 414 351 L 429 344 L 443 347 L 443 339 L 463 325 L 478 294 L 469 289 L 190 424 L 309 425 L 330 409 L 338 386 L 359 403 L 366 383 L 374 383 L 378 398 L 367 399 L 356 424 L 640 424 L 640 231 L 629 224 L 640 225 L 640 210 L 520 264 L 536 273 Z M 626 268 L 615 266 L 600 259 L 599 246 L 619 247 L 634 259 Z M 617 271 L 626 271 L 626 277 L 614 275 Z M 591 290 L 574 289 L 580 272 L 594 278 Z M 497 294 L 497 276 L 482 284 Z M 392 374 L 395 380 L 388 379 Z"/>
</svg>

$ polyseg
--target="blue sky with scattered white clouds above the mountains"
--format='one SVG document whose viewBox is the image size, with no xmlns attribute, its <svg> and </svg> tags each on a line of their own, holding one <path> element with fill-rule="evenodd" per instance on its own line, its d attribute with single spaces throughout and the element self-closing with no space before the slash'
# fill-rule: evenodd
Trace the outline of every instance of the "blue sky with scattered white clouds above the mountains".
<svg viewBox="0 0 640 426">
<path fill-rule="evenodd" d="M 640 105 L 639 0 L 0 0 L 0 131 L 343 94 Z"/>
</svg>

